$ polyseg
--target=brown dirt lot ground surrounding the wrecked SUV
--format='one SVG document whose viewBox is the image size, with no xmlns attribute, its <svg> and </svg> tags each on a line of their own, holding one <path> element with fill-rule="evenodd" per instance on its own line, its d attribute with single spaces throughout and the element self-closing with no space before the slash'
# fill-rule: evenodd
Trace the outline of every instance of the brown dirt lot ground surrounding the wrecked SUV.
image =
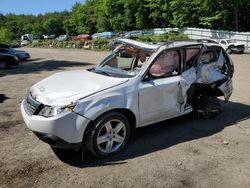
<svg viewBox="0 0 250 188">
<path fill-rule="evenodd" d="M 0 71 L 0 187 L 250 187 L 250 54 L 232 55 L 234 93 L 214 119 L 191 115 L 135 131 L 107 159 L 56 154 L 26 128 L 20 102 L 37 81 L 86 68 L 105 52 L 29 49 L 32 60 Z"/>
</svg>

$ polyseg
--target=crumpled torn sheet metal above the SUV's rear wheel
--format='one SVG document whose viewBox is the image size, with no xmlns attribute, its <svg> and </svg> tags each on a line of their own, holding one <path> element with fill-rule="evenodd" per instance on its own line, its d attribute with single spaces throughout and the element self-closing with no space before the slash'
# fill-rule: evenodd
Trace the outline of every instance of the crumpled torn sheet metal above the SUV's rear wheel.
<svg viewBox="0 0 250 188">
<path fill-rule="evenodd" d="M 220 52 L 219 58 L 216 62 L 204 63 L 200 62 L 198 66 L 197 83 L 211 84 L 219 80 L 226 79 L 227 76 L 221 72 L 223 62 L 223 52 Z"/>
</svg>

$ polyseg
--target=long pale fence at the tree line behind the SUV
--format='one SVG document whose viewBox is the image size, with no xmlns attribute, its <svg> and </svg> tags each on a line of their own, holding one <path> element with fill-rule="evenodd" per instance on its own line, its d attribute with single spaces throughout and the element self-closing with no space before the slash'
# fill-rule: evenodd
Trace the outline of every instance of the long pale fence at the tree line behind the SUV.
<svg viewBox="0 0 250 188">
<path fill-rule="evenodd" d="M 150 30 L 154 34 L 163 34 L 169 31 L 177 31 L 180 33 L 187 34 L 190 39 L 234 39 L 236 42 L 241 42 L 245 44 L 246 49 L 250 48 L 250 32 L 233 32 L 233 31 L 223 31 L 223 30 L 212 30 L 212 29 L 200 29 L 200 28 L 156 28 Z"/>
</svg>

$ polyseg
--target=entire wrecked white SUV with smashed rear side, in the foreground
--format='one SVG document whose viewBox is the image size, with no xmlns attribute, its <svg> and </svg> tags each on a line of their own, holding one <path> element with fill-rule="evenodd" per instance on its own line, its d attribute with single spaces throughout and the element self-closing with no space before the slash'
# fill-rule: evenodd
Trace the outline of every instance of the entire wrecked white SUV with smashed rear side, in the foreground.
<svg viewBox="0 0 250 188">
<path fill-rule="evenodd" d="M 119 42 L 96 67 L 30 88 L 21 112 L 41 140 L 105 157 L 124 149 L 137 127 L 192 111 L 215 115 L 217 97 L 232 94 L 233 63 L 218 44 Z"/>
</svg>

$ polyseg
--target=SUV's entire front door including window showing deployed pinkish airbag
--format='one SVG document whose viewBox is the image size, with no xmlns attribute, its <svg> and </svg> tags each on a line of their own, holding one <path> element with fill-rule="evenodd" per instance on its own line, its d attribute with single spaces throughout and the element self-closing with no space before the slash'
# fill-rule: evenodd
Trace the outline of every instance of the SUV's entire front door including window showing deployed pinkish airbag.
<svg viewBox="0 0 250 188">
<path fill-rule="evenodd" d="M 180 51 L 163 51 L 139 86 L 140 125 L 158 122 L 180 113 Z"/>
</svg>

